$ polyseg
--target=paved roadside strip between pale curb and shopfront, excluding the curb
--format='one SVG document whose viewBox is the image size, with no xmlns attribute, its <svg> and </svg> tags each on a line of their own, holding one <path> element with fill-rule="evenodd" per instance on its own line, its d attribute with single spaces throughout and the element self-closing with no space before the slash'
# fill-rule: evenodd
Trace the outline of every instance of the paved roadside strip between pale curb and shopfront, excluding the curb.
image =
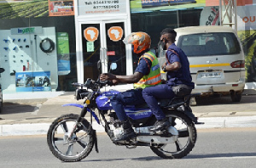
<svg viewBox="0 0 256 168">
<path fill-rule="evenodd" d="M 79 108 L 61 107 L 62 104 L 68 103 L 77 103 L 73 99 L 73 92 L 49 99 L 4 100 L 0 119 L 32 122 L 33 119 L 56 118 L 69 113 L 79 114 Z M 244 95 L 239 103 L 232 102 L 230 97 L 199 98 L 191 109 L 199 117 L 256 115 L 256 95 Z"/>
</svg>

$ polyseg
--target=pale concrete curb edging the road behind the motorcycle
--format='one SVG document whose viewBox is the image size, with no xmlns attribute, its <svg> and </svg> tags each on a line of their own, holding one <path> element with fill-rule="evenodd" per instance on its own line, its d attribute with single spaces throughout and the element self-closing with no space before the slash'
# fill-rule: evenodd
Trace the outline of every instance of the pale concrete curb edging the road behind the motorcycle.
<svg viewBox="0 0 256 168">
<path fill-rule="evenodd" d="M 256 127 L 256 115 L 239 117 L 202 117 L 199 119 L 204 125 L 195 125 L 196 129 Z M 0 125 L 0 136 L 46 135 L 50 123 Z M 96 132 L 104 132 L 102 125 L 93 121 Z"/>
</svg>

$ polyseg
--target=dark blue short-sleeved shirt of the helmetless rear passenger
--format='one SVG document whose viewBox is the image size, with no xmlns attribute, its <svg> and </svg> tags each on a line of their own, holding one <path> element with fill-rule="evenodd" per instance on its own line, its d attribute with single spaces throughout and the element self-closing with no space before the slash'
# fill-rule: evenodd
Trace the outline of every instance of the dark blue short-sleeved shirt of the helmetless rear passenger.
<svg viewBox="0 0 256 168">
<path fill-rule="evenodd" d="M 175 52 L 172 52 L 175 51 Z M 176 71 L 167 71 L 167 84 L 171 86 L 177 86 L 179 84 L 185 84 L 189 87 L 195 87 L 189 70 L 189 59 L 181 48 L 172 43 L 172 45 L 166 51 L 166 57 L 170 64 L 179 62 L 182 67 Z M 166 64 L 169 64 L 166 60 Z"/>
</svg>

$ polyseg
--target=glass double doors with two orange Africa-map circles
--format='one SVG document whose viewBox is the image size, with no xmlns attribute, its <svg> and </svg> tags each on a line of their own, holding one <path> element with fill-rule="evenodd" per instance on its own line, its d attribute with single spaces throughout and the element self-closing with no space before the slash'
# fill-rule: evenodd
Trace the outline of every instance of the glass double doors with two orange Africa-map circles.
<svg viewBox="0 0 256 168">
<path fill-rule="evenodd" d="M 97 79 L 99 73 L 107 73 L 111 63 L 117 63 L 116 75 L 126 75 L 125 21 L 96 21 L 81 24 L 84 81 Z M 101 60 L 102 70 L 97 70 Z"/>
</svg>

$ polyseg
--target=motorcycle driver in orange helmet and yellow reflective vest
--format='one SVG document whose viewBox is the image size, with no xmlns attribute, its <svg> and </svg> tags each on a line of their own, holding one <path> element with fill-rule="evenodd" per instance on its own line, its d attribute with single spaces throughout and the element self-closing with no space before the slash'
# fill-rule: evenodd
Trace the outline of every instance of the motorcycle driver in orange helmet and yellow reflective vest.
<svg viewBox="0 0 256 168">
<path fill-rule="evenodd" d="M 125 114 L 124 105 L 144 104 L 142 91 L 146 87 L 152 87 L 160 84 L 160 65 L 154 53 L 149 51 L 151 39 L 145 32 L 133 32 L 126 36 L 123 40 L 125 44 L 133 45 L 133 52 L 139 57 L 137 69 L 130 76 L 116 76 L 110 73 L 105 73 L 100 76 L 101 81 L 113 81 L 114 84 L 134 83 L 135 89 L 125 92 L 119 92 L 116 96 L 110 99 L 116 115 L 123 122 L 124 132 L 115 141 L 123 141 L 136 137 L 136 133 L 131 127 L 130 121 Z"/>
</svg>

